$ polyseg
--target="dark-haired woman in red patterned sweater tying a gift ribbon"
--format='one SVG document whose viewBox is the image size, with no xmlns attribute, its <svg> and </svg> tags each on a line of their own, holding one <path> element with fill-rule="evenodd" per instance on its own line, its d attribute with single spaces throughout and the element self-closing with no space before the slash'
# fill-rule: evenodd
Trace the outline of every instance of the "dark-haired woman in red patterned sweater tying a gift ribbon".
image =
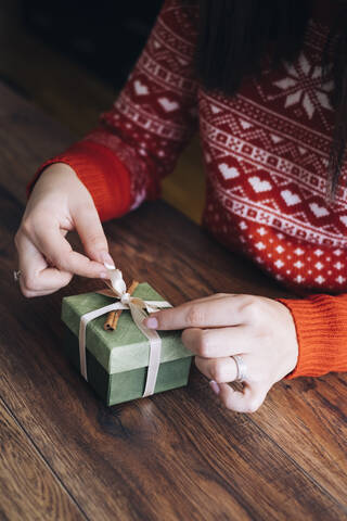
<svg viewBox="0 0 347 521">
<path fill-rule="evenodd" d="M 147 326 L 183 329 L 196 366 L 236 411 L 255 411 L 285 377 L 345 371 L 344 21 L 337 0 L 167 0 L 112 110 L 28 187 L 15 238 L 23 293 L 52 293 L 74 274 L 107 277 L 100 220 L 157 198 L 198 124 L 203 225 L 306 296 L 217 294 Z M 64 238 L 74 228 L 86 256 Z"/>
</svg>

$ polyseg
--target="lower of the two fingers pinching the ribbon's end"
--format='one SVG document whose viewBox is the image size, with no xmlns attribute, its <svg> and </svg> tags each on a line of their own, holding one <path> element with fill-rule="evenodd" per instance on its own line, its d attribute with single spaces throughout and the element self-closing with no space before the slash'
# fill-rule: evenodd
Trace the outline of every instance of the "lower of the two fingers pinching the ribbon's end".
<svg viewBox="0 0 347 521">
<path fill-rule="evenodd" d="M 63 237 L 56 224 L 40 227 L 34 236 L 35 246 L 47 257 L 49 263 L 62 271 L 90 278 L 106 278 L 105 267 L 85 255 L 74 252 L 69 242 Z"/>
</svg>

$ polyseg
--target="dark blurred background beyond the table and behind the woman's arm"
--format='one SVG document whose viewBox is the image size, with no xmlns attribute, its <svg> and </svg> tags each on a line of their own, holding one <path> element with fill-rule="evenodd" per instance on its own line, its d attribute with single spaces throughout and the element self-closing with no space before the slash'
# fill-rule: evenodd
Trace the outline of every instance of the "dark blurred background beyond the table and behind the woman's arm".
<svg viewBox="0 0 347 521">
<path fill-rule="evenodd" d="M 70 130 L 73 142 L 112 107 L 163 2 L 0 0 L 0 84 Z M 195 223 L 205 201 L 201 158 L 196 135 L 163 182 L 163 198 Z"/>
</svg>

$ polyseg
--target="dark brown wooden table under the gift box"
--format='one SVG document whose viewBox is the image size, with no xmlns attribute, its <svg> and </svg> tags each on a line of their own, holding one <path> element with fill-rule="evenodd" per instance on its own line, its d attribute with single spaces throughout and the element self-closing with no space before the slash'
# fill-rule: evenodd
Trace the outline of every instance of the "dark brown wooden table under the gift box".
<svg viewBox="0 0 347 521">
<path fill-rule="evenodd" d="M 61 352 L 63 295 L 13 282 L 25 183 L 73 137 L 0 86 L 0 519 L 347 519 L 346 374 L 277 384 L 254 415 L 185 389 L 106 408 Z M 285 295 L 163 202 L 105 225 L 113 256 L 174 304 L 214 292 Z M 76 238 L 74 238 L 76 242 Z"/>
</svg>

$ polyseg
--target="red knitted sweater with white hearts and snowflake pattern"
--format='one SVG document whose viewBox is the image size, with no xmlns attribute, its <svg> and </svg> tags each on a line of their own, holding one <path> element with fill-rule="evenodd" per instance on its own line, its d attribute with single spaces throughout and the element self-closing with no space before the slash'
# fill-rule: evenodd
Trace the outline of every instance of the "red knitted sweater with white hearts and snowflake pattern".
<svg viewBox="0 0 347 521">
<path fill-rule="evenodd" d="M 321 82 L 330 20 L 322 4 L 296 62 L 277 71 L 266 65 L 230 99 L 194 77 L 197 8 L 167 0 L 114 106 L 37 173 L 67 163 L 101 219 L 111 219 L 159 195 L 160 180 L 198 128 L 207 181 L 203 225 L 307 295 L 281 300 L 299 342 L 291 378 L 347 370 L 347 192 L 340 188 L 332 204 L 324 198 L 334 114 L 333 84 Z"/>
</svg>

